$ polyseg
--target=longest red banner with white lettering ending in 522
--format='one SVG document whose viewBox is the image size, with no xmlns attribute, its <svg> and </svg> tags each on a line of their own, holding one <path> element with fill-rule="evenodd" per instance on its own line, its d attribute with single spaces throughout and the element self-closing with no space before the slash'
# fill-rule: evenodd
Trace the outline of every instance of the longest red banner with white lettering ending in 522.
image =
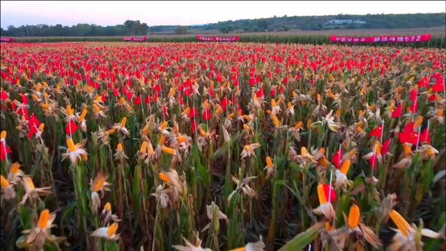
<svg viewBox="0 0 446 251">
<path fill-rule="evenodd" d="M 334 43 L 419 43 L 431 40 L 431 34 L 417 36 L 374 36 L 374 37 L 344 37 L 331 36 L 330 40 Z"/>
</svg>

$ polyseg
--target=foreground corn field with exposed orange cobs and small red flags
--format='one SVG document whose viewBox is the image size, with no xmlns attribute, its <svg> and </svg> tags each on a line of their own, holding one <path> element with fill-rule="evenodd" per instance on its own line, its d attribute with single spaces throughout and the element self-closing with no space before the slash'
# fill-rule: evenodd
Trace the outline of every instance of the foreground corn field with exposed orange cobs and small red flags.
<svg viewBox="0 0 446 251">
<path fill-rule="evenodd" d="M 256 42 L 1 43 L 1 249 L 445 250 L 445 50 Z"/>
</svg>

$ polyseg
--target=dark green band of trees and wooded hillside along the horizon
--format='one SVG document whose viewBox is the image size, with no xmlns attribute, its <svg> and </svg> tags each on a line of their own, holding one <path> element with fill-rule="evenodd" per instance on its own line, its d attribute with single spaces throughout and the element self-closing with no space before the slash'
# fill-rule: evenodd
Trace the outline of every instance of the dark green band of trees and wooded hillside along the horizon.
<svg viewBox="0 0 446 251">
<path fill-rule="evenodd" d="M 363 20 L 363 25 L 327 26 L 328 20 Z M 8 26 L 1 29 L 1 36 L 144 36 L 148 33 L 171 32 L 187 34 L 189 31 L 199 33 L 203 30 L 219 30 L 222 33 L 252 31 L 288 31 L 289 29 L 322 30 L 322 29 L 412 29 L 446 25 L 445 13 L 416 14 L 367 14 L 367 15 L 325 15 L 325 16 L 292 16 L 269 17 L 254 20 L 228 20 L 214 24 L 196 26 L 151 26 L 139 20 L 127 20 L 115 26 L 98 26 L 95 24 L 77 24 L 73 26 L 54 26 L 47 24 Z"/>
</svg>

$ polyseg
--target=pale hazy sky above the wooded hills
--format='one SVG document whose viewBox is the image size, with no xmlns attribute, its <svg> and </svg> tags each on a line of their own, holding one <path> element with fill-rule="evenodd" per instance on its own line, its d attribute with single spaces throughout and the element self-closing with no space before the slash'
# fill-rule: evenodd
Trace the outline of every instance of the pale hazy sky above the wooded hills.
<svg viewBox="0 0 446 251">
<path fill-rule="evenodd" d="M 148 26 L 208 24 L 261 17 L 445 12 L 446 1 L 0 1 L 1 27 L 140 20 Z"/>
</svg>

